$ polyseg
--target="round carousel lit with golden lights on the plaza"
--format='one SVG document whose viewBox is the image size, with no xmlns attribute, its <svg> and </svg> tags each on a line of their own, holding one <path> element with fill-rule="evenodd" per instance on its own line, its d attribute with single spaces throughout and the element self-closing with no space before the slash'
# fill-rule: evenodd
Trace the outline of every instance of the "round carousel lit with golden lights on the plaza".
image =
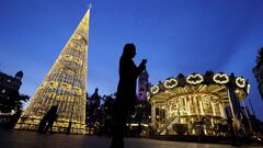
<svg viewBox="0 0 263 148">
<path fill-rule="evenodd" d="M 150 88 L 151 127 L 157 135 L 224 135 L 229 118 L 242 125 L 240 107 L 249 90 L 248 80 L 233 73 L 170 77 Z"/>
</svg>

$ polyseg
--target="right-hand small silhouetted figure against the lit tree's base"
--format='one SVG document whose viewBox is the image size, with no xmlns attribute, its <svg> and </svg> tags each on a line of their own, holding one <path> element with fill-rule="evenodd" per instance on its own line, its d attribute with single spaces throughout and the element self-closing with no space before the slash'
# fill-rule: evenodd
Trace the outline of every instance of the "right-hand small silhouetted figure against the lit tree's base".
<svg viewBox="0 0 263 148">
<path fill-rule="evenodd" d="M 45 132 L 49 129 L 53 133 L 53 124 L 57 119 L 57 109 L 58 106 L 52 106 L 52 109 L 47 112 L 47 126 L 45 127 Z"/>
</svg>

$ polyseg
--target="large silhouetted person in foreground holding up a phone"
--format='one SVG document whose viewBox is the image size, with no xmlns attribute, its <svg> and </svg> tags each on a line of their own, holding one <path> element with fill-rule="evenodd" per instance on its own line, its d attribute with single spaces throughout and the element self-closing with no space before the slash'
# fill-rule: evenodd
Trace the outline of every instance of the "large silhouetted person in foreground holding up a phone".
<svg viewBox="0 0 263 148">
<path fill-rule="evenodd" d="M 146 59 L 142 59 L 137 67 L 133 60 L 136 55 L 134 44 L 124 46 L 123 55 L 119 59 L 119 81 L 116 100 L 113 109 L 113 139 L 111 148 L 124 148 L 124 132 L 126 118 L 135 110 L 136 82 L 140 72 L 146 68 Z"/>
</svg>

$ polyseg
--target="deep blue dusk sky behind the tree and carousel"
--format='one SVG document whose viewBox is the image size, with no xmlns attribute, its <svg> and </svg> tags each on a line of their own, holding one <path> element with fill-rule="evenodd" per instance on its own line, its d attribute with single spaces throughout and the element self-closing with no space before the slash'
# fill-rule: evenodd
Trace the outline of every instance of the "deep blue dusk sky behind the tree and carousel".
<svg viewBox="0 0 263 148">
<path fill-rule="evenodd" d="M 0 1 L 0 70 L 24 71 L 21 92 L 34 94 L 88 5 L 89 0 Z M 135 61 L 148 59 L 152 83 L 206 70 L 245 77 L 248 98 L 263 118 L 252 73 L 263 46 L 262 8 L 262 0 L 93 0 L 88 92 L 116 91 L 118 58 L 132 42 Z"/>
</svg>

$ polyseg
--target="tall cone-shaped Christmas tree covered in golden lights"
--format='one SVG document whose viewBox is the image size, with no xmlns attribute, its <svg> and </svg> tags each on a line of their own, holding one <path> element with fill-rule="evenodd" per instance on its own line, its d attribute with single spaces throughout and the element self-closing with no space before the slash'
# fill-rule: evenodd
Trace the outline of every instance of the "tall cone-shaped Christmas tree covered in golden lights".
<svg viewBox="0 0 263 148">
<path fill-rule="evenodd" d="M 43 116 L 58 105 L 53 130 L 85 133 L 89 20 L 90 8 L 37 88 L 15 129 L 37 130 Z"/>
</svg>

